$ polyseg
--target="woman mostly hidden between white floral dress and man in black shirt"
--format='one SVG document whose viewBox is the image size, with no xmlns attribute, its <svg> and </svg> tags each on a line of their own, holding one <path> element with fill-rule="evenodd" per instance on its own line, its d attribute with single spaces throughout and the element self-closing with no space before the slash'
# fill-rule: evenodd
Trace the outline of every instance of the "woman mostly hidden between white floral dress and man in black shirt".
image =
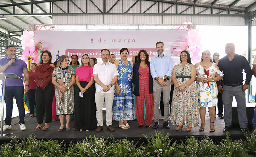
<svg viewBox="0 0 256 157">
<path fill-rule="evenodd" d="M 220 59 L 220 54 L 215 52 L 213 54 L 213 62 L 216 63 L 218 65 L 219 63 L 219 59 Z M 221 86 L 223 87 L 223 81 L 221 81 Z M 215 114 L 216 114 L 216 106 L 215 106 Z M 222 94 L 220 92 L 218 92 L 218 117 L 220 119 L 223 119 L 223 101 L 222 101 Z"/>
</svg>

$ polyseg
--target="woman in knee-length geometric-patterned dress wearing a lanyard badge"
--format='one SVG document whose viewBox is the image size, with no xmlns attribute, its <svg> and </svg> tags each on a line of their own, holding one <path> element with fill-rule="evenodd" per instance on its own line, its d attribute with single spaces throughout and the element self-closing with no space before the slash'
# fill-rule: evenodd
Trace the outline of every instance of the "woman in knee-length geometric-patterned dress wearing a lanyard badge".
<svg viewBox="0 0 256 157">
<path fill-rule="evenodd" d="M 66 115 L 66 131 L 70 131 L 70 115 L 74 114 L 74 88 L 75 72 L 73 68 L 69 67 L 69 57 L 62 55 L 59 58 L 61 66 L 56 67 L 52 73 L 52 83 L 55 87 L 56 97 L 56 116 L 59 116 L 60 128 L 58 131 L 64 129 L 64 115 Z M 63 85 L 60 81 L 63 80 Z M 62 97 L 60 99 L 60 93 Z"/>
</svg>

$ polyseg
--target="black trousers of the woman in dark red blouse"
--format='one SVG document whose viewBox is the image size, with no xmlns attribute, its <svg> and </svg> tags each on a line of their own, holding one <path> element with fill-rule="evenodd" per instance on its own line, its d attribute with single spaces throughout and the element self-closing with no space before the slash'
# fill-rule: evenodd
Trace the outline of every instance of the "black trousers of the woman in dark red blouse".
<svg viewBox="0 0 256 157">
<path fill-rule="evenodd" d="M 52 122 L 52 100 L 54 96 L 54 86 L 52 83 L 48 84 L 45 89 L 36 87 L 36 119 L 37 123 L 43 123 L 43 116 L 45 113 L 45 122 Z"/>
</svg>

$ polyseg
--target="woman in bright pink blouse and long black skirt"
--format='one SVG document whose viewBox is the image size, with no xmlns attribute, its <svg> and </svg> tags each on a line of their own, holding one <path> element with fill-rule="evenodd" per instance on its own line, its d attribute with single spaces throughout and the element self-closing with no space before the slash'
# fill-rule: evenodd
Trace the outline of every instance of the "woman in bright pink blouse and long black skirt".
<svg viewBox="0 0 256 157">
<path fill-rule="evenodd" d="M 76 68 L 76 84 L 78 86 L 75 107 L 74 128 L 80 131 L 93 130 L 97 127 L 95 88 L 92 86 L 93 67 L 87 54 L 81 57 L 81 67 Z"/>
</svg>

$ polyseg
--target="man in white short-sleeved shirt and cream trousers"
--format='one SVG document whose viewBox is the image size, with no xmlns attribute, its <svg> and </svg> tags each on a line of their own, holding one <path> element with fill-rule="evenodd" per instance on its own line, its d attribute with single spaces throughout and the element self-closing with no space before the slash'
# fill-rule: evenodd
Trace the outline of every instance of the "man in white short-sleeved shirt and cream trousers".
<svg viewBox="0 0 256 157">
<path fill-rule="evenodd" d="M 96 118 L 97 128 L 96 132 L 100 132 L 103 128 L 102 108 L 105 98 L 106 103 L 106 125 L 109 131 L 115 131 L 112 127 L 112 105 L 114 98 L 114 87 L 112 85 L 117 81 L 118 71 L 116 66 L 109 62 L 110 52 L 108 49 L 102 49 L 100 56 L 102 61 L 95 64 L 93 68 L 93 78 L 96 82 Z"/>
</svg>

